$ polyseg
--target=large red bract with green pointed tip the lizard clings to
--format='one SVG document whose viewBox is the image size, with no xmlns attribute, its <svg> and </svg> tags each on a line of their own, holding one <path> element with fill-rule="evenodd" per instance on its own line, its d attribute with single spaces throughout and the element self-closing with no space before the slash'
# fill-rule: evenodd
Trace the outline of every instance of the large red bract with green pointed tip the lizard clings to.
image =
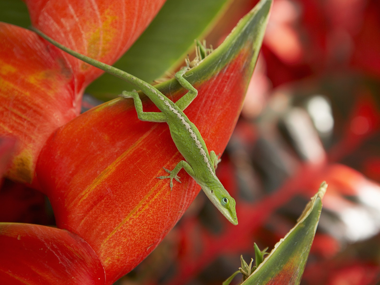
<svg viewBox="0 0 380 285">
<path fill-rule="evenodd" d="M 225 148 L 241 110 L 258 54 L 252 45 L 261 43 L 264 27 L 257 21 L 265 24 L 270 7 L 263 3 L 230 40 L 185 75 L 199 92 L 185 113 L 216 153 Z M 157 88 L 173 101 L 184 94 L 175 79 Z M 157 107 L 146 101 L 144 111 Z M 132 100 L 116 99 L 57 130 L 36 173 L 57 225 L 92 246 L 111 282 L 157 246 L 198 194 L 200 187 L 183 170 L 182 184 L 174 182 L 173 191 L 167 180 L 155 178 L 163 175 L 162 167 L 173 169 L 181 159 L 166 124 L 142 122 Z"/>
</svg>

